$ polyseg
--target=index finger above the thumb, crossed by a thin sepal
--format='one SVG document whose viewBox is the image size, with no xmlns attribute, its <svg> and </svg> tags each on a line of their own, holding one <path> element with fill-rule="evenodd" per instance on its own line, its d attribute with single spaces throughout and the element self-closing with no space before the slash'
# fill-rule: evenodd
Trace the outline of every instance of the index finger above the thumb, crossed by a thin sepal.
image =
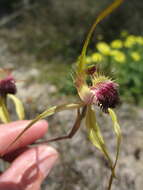
<svg viewBox="0 0 143 190">
<path fill-rule="evenodd" d="M 48 123 L 45 120 L 38 121 L 7 150 L 7 147 L 23 131 L 29 122 L 28 120 L 22 120 L 0 125 L 0 155 L 25 147 L 45 135 L 48 129 Z"/>
</svg>

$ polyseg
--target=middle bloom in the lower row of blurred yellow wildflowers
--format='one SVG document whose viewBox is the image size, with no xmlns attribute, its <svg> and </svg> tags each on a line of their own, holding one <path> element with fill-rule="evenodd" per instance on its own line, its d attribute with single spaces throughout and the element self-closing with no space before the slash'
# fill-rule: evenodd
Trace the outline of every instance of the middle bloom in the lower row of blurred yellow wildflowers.
<svg viewBox="0 0 143 190">
<path fill-rule="evenodd" d="M 126 60 L 125 54 L 118 50 L 112 50 L 110 55 L 113 56 L 113 59 L 115 61 L 120 62 L 120 63 L 123 63 Z"/>
</svg>

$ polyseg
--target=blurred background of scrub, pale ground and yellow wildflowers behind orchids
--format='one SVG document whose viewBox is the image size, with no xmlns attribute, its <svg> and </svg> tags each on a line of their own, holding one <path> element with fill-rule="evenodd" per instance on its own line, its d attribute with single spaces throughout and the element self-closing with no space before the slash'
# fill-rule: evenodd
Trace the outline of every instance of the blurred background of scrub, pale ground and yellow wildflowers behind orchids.
<svg viewBox="0 0 143 190">
<path fill-rule="evenodd" d="M 74 63 L 91 24 L 111 2 L 0 1 L 0 67 L 12 69 L 19 81 L 17 95 L 25 104 L 27 119 L 50 105 L 76 101 L 71 77 Z M 87 64 L 97 64 L 120 85 L 121 103 L 116 112 L 123 141 L 113 190 L 141 190 L 143 186 L 142 10 L 142 0 L 126 0 L 97 26 L 87 54 Z M 75 114 L 66 111 L 48 118 L 49 134 L 45 138 L 66 133 Z M 97 115 L 114 156 L 111 121 L 98 109 Z M 84 125 L 72 140 L 52 145 L 61 156 L 42 190 L 105 189 L 108 164 L 88 141 Z"/>
</svg>

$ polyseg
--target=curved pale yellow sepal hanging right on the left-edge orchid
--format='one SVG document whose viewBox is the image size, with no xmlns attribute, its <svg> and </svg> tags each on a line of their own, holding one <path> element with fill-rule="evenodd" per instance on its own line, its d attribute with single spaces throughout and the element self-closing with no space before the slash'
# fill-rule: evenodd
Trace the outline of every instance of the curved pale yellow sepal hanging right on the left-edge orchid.
<svg viewBox="0 0 143 190">
<path fill-rule="evenodd" d="M 12 102 L 15 105 L 15 110 L 16 110 L 18 118 L 20 120 L 23 120 L 25 118 L 25 111 L 24 111 L 23 103 L 21 102 L 21 100 L 19 98 L 17 98 L 16 96 L 14 96 L 12 94 L 8 94 L 8 97 L 12 100 Z"/>
</svg>

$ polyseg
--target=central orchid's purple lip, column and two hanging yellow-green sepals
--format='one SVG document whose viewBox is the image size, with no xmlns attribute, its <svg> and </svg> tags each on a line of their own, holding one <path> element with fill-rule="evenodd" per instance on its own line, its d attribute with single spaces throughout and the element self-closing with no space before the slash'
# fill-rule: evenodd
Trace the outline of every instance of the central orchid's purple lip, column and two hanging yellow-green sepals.
<svg viewBox="0 0 143 190">
<path fill-rule="evenodd" d="M 90 85 L 86 78 L 90 76 Z M 118 84 L 112 81 L 109 77 L 100 75 L 95 66 L 80 71 L 77 73 L 75 86 L 77 88 L 80 99 L 83 105 L 86 106 L 86 127 L 88 129 L 89 139 L 106 157 L 113 169 L 113 162 L 108 153 L 106 143 L 100 131 L 95 114 L 95 105 L 99 106 L 101 111 L 110 115 L 113 121 L 114 131 L 117 135 L 117 153 L 118 159 L 121 131 L 117 121 L 117 117 L 112 108 L 115 108 L 119 102 Z M 113 170 L 112 170 L 113 171 Z M 114 172 L 114 171 L 113 171 Z"/>
</svg>

